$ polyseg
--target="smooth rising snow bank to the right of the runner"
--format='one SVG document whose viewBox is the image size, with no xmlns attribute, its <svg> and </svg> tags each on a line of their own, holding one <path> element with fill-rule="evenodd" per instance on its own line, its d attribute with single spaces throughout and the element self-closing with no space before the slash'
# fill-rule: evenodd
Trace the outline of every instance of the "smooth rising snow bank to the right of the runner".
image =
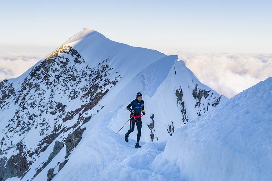
<svg viewBox="0 0 272 181">
<path fill-rule="evenodd" d="M 178 168 L 180 180 L 271 180 L 271 97 L 268 78 L 180 126 L 155 159 L 155 170 Z"/>
</svg>

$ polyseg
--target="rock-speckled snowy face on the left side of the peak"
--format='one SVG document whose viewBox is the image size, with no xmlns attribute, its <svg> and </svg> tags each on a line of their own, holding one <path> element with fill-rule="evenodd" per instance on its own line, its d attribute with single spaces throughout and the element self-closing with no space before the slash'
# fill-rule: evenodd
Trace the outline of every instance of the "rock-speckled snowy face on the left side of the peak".
<svg viewBox="0 0 272 181">
<path fill-rule="evenodd" d="M 0 181 L 23 177 L 29 165 L 56 138 L 64 143 L 66 135 L 83 123 L 84 113 L 97 105 L 121 78 L 112 72 L 108 61 L 109 58 L 101 60 L 90 68 L 78 51 L 67 44 L 33 67 L 17 90 L 7 79 L 0 83 L 0 111 L 7 111 L 8 118 L 8 125 L 1 132 Z M 70 104 L 80 106 L 71 110 Z M 27 146 L 30 131 L 38 136 L 32 147 Z M 43 165 L 41 168 L 46 163 Z"/>
</svg>

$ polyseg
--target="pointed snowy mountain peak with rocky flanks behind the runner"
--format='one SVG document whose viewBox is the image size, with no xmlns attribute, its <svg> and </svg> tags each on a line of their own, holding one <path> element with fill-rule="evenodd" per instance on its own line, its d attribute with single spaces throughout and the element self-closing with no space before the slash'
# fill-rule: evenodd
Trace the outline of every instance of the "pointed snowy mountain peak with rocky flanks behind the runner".
<svg viewBox="0 0 272 181">
<path fill-rule="evenodd" d="M 22 76 L 1 82 L 0 181 L 55 179 L 75 155 L 83 155 L 89 140 L 118 141 L 113 132 L 128 119 L 125 107 L 138 91 L 147 112 L 145 142 L 166 141 L 174 127 L 227 100 L 200 83 L 177 56 L 113 42 L 84 28 Z M 88 174 L 98 174 L 101 160 L 119 157 L 102 155 L 96 162 L 95 153 L 86 155 L 86 162 L 96 163 Z"/>
</svg>

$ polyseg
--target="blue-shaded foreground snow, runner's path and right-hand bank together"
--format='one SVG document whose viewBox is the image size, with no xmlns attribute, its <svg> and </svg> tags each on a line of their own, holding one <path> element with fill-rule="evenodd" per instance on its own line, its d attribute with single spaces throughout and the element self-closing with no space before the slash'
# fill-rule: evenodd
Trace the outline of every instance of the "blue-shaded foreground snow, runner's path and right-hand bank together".
<svg viewBox="0 0 272 181">
<path fill-rule="evenodd" d="M 88 123 L 53 180 L 270 180 L 271 85 L 269 78 L 180 126 L 166 146 L 134 148 L 133 136 L 129 143 L 116 136 L 105 114 L 105 122 Z"/>
</svg>

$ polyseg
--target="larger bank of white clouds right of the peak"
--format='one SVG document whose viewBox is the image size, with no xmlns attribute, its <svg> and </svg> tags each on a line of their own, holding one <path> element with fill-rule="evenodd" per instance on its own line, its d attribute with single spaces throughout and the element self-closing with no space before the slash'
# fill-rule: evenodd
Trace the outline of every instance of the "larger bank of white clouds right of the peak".
<svg viewBox="0 0 272 181">
<path fill-rule="evenodd" d="M 272 54 L 174 54 L 185 62 L 202 83 L 228 98 L 272 77 Z"/>
</svg>

